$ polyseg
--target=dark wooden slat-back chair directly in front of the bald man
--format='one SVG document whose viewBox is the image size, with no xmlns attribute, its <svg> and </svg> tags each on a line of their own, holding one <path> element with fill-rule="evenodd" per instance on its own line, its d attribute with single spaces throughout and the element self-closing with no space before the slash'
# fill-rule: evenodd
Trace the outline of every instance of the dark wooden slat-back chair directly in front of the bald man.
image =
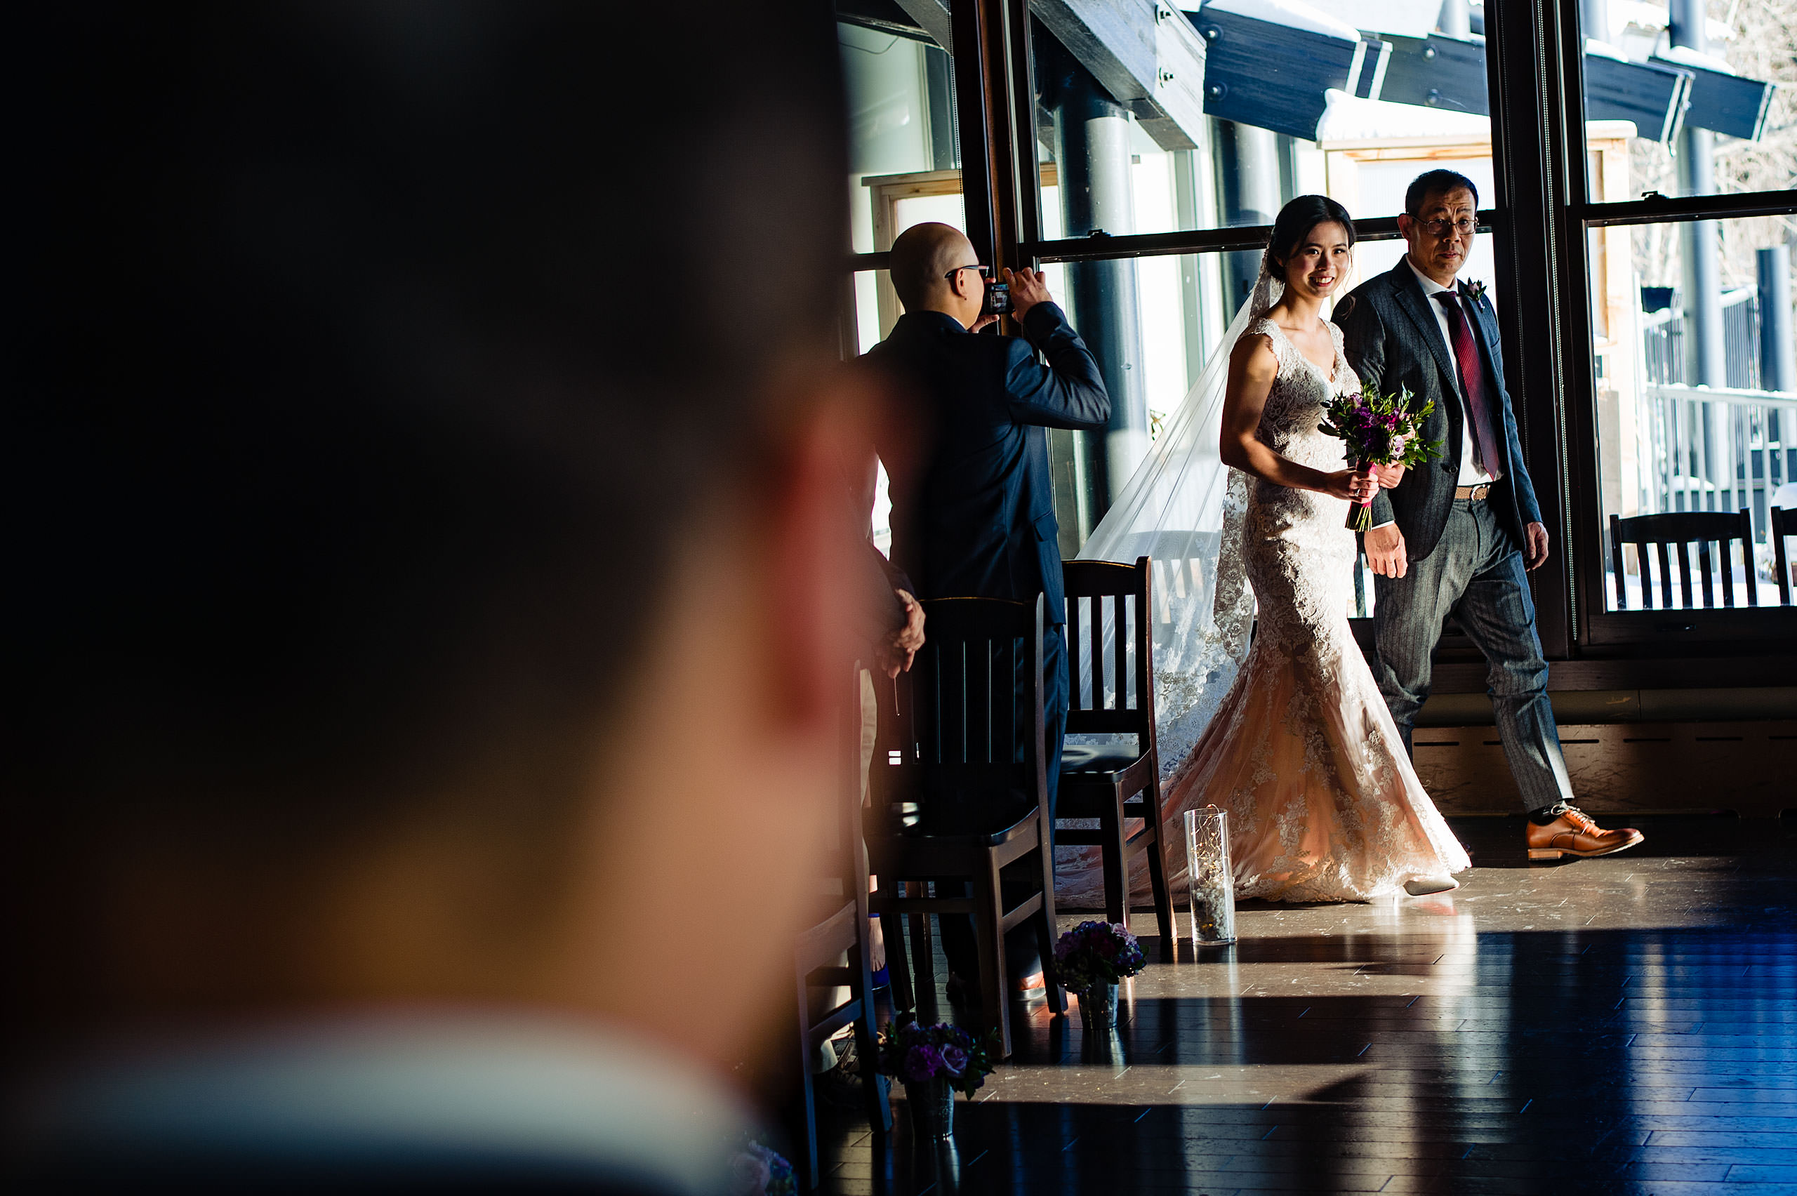
<svg viewBox="0 0 1797 1196">
<path fill-rule="evenodd" d="M 927 641 L 893 700 L 881 704 L 868 853 L 873 910 L 886 930 L 893 1002 L 916 991 L 898 941 L 909 918 L 918 979 L 933 982 L 929 914 L 972 914 L 985 1024 L 1012 1052 L 1005 934 L 1035 927 L 1048 1002 L 1066 1011 L 1055 977 L 1055 855 L 1042 765 L 1042 600 L 936 598 L 924 603 Z M 1024 734 L 1019 734 L 1022 731 Z M 1017 743 L 1030 747 L 1017 760 Z M 1028 882 L 1006 907 L 1001 880 Z M 933 882 L 936 896 L 906 896 Z M 963 896 L 972 884 L 974 896 Z M 922 889 L 922 885 L 916 885 Z M 918 918 L 922 914 L 922 918 Z"/>
</svg>

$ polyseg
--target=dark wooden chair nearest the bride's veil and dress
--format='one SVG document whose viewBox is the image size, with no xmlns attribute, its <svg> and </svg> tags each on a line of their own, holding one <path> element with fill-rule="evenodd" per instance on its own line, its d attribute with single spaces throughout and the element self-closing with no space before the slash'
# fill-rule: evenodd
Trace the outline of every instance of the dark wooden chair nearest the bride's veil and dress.
<svg viewBox="0 0 1797 1196">
<path fill-rule="evenodd" d="M 1132 734 L 1134 745 L 1067 745 L 1060 756 L 1055 840 L 1096 844 L 1103 851 L 1105 918 L 1129 927 L 1130 862 L 1146 857 L 1148 889 L 1161 928 L 1161 957 L 1173 957 L 1173 900 L 1166 889 L 1166 830 L 1161 824 L 1161 754 L 1154 740 L 1152 567 L 1069 560 L 1067 591 L 1067 734 Z M 1087 603 L 1080 600 L 1087 598 Z M 1105 652 L 1105 614 L 1112 627 Z M 1084 646 L 1082 646 L 1084 641 Z M 1134 646 L 1134 652 L 1129 648 Z M 1130 664 L 1134 657 L 1134 664 Z M 1080 661 L 1091 661 L 1091 688 Z M 1109 699 L 1107 699 L 1109 693 Z M 1098 819 L 1098 828 L 1069 828 L 1067 819 Z M 1141 819 L 1125 835 L 1129 819 Z"/>
</svg>

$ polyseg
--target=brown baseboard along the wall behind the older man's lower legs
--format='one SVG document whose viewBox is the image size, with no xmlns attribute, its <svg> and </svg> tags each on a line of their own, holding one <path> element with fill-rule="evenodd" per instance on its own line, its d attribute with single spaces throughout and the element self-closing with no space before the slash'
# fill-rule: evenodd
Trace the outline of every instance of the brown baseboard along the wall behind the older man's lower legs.
<svg viewBox="0 0 1797 1196">
<path fill-rule="evenodd" d="M 1797 808 L 1797 720 L 1562 724 L 1560 743 L 1590 813 Z M 1443 813 L 1522 810 L 1495 727 L 1418 727 L 1414 747 Z"/>
</svg>

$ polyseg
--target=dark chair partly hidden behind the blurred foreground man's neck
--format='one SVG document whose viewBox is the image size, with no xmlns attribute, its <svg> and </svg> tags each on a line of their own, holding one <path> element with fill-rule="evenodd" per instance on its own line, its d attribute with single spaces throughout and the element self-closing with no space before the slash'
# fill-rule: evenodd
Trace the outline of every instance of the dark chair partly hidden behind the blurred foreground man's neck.
<svg viewBox="0 0 1797 1196">
<path fill-rule="evenodd" d="M 868 930 L 868 855 L 861 839 L 861 668 L 854 670 L 845 704 L 843 747 L 845 776 L 839 785 L 834 826 L 834 867 L 825 878 L 834 896 L 823 900 L 819 921 L 801 930 L 792 950 L 794 1000 L 798 1006 L 798 1085 L 789 1110 L 789 1135 L 800 1151 L 796 1169 L 807 1187 L 823 1180 L 818 1162 L 818 1097 L 810 1083 L 810 1061 L 825 1042 L 845 1025 L 855 1027 L 861 1058 L 863 1092 L 868 1121 L 875 1133 L 891 1130 L 886 1077 L 877 1074 L 873 1033 L 873 952 Z M 841 961 L 848 957 L 845 966 Z M 848 989 L 836 1002 L 834 989 Z"/>
</svg>

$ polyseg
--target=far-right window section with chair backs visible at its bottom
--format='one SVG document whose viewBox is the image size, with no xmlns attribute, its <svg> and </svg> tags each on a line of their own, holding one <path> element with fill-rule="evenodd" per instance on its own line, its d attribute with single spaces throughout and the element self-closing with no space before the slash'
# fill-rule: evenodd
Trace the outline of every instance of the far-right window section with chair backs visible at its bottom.
<svg viewBox="0 0 1797 1196">
<path fill-rule="evenodd" d="M 1583 634 L 1788 634 L 1797 136 L 1775 84 L 1797 81 L 1797 2 L 1587 0 L 1580 31 L 1583 111 L 1626 133 L 1626 154 L 1589 136 L 1576 208 L 1590 370 L 1567 379 L 1567 436 L 1596 447 L 1571 478 Z"/>
</svg>

